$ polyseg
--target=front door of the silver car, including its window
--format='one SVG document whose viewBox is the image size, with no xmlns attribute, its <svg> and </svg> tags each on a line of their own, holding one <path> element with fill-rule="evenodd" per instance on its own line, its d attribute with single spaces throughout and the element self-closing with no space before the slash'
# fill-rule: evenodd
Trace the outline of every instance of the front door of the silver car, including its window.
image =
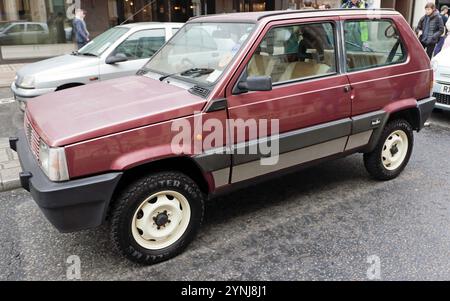
<svg viewBox="0 0 450 301">
<path fill-rule="evenodd" d="M 136 74 L 165 42 L 164 28 L 145 29 L 132 33 L 110 54 L 110 56 L 123 54 L 128 60 L 115 64 L 102 63 L 100 79 L 107 80 Z"/>
</svg>

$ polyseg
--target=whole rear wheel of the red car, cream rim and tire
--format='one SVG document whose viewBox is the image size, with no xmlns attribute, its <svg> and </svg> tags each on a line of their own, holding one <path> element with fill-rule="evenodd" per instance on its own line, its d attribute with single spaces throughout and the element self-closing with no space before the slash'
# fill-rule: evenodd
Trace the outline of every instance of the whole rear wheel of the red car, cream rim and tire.
<svg viewBox="0 0 450 301">
<path fill-rule="evenodd" d="M 409 162 L 414 145 L 411 125 L 403 119 L 389 122 L 375 149 L 364 154 L 369 174 L 381 181 L 398 177 Z"/>
</svg>

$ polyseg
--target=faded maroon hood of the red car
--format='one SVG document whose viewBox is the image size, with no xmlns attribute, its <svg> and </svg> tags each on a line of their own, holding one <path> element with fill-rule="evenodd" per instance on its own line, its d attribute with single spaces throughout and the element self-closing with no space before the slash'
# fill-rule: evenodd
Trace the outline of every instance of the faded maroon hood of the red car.
<svg viewBox="0 0 450 301">
<path fill-rule="evenodd" d="M 65 146 L 201 111 L 206 100 L 144 76 L 99 82 L 40 96 L 27 116 L 50 146 Z"/>
</svg>

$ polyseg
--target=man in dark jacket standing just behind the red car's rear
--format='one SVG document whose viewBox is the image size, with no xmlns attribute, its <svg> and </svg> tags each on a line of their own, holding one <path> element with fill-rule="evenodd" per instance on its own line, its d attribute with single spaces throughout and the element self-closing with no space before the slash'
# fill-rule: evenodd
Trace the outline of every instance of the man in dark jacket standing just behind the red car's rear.
<svg viewBox="0 0 450 301">
<path fill-rule="evenodd" d="M 431 59 L 439 37 L 444 34 L 444 21 L 434 3 L 429 2 L 425 5 L 425 15 L 420 19 L 416 33 Z"/>
</svg>

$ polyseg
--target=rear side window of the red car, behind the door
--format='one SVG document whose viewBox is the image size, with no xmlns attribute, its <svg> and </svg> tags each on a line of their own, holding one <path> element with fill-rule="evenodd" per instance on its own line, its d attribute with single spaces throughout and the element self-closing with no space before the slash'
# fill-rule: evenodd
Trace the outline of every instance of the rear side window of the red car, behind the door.
<svg viewBox="0 0 450 301">
<path fill-rule="evenodd" d="M 390 20 L 355 20 L 344 25 L 347 70 L 358 71 L 406 61 L 406 48 Z"/>
</svg>

